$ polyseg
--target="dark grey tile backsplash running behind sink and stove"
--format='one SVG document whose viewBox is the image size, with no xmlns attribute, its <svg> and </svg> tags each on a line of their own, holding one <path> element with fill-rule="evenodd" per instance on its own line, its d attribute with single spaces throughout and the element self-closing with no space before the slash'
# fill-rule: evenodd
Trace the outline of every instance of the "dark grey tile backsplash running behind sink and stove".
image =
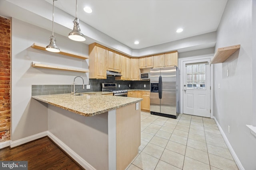
<svg viewBox="0 0 256 170">
<path fill-rule="evenodd" d="M 118 90 L 128 90 L 128 89 L 142 89 L 150 90 L 150 81 L 122 81 L 115 80 L 114 77 L 107 77 L 107 79 L 89 79 L 90 89 L 86 89 L 86 85 L 76 85 L 78 93 L 81 92 L 99 92 L 102 89 L 102 83 L 116 83 L 120 84 Z M 129 87 L 130 84 L 130 87 Z M 144 85 L 146 87 L 144 87 Z M 71 93 L 72 86 L 70 85 L 32 85 L 32 96 L 38 95 L 49 95 L 49 94 L 64 94 Z"/>
</svg>

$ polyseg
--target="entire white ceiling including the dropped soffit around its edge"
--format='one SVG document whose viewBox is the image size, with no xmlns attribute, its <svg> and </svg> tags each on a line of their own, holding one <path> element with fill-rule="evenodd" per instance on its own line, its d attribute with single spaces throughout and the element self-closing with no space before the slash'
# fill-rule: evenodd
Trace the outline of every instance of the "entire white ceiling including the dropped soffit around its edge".
<svg viewBox="0 0 256 170">
<path fill-rule="evenodd" d="M 52 31 L 52 0 L 0 0 L 0 16 Z M 227 0 L 78 0 L 85 44 L 100 43 L 128 56 L 215 47 Z M 76 0 L 54 2 L 54 35 L 73 28 Z M 83 11 L 90 6 L 92 13 Z M 182 33 L 176 29 L 183 28 Z M 58 39 L 58 35 L 57 35 Z M 140 41 L 135 45 L 134 41 Z M 48 43 L 48 38 L 45 39 Z"/>
</svg>

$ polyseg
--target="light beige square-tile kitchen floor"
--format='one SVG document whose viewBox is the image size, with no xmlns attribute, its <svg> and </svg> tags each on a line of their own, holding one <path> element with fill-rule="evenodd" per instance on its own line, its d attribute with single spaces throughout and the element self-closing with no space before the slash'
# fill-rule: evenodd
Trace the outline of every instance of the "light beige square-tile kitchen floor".
<svg viewBox="0 0 256 170">
<path fill-rule="evenodd" d="M 127 170 L 238 170 L 214 119 L 141 112 L 139 154 Z"/>
</svg>

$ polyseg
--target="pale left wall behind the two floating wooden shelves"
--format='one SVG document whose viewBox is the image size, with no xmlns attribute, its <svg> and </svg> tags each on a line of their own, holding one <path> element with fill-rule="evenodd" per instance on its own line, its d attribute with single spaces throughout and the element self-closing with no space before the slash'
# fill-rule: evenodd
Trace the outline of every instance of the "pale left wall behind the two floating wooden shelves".
<svg viewBox="0 0 256 170">
<path fill-rule="evenodd" d="M 12 141 L 48 130 L 47 105 L 31 98 L 32 84 L 71 84 L 78 75 L 88 84 L 88 73 L 31 67 L 32 61 L 38 61 L 41 64 L 88 69 L 88 59 L 76 59 L 30 47 L 33 43 L 48 45 L 51 34 L 51 31 L 12 18 Z M 55 36 L 61 50 L 88 56 L 88 45 L 62 35 Z M 82 83 L 80 79 L 77 81 L 78 84 Z"/>
</svg>

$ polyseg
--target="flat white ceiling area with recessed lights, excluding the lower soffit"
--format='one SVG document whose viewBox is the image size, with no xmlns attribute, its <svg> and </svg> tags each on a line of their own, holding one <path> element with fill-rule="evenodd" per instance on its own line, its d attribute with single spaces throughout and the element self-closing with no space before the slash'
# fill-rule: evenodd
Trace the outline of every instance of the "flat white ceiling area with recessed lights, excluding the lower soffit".
<svg viewBox="0 0 256 170">
<path fill-rule="evenodd" d="M 52 3 L 52 0 L 46 0 Z M 131 49 L 216 31 L 227 0 L 78 0 L 77 17 Z M 58 0 L 57 8 L 75 16 L 76 0 Z M 83 8 L 90 6 L 92 13 Z M 182 33 L 176 29 L 183 28 Z M 81 30 L 85 35 L 86 32 Z M 135 45 L 134 41 L 140 41 Z"/>
</svg>

